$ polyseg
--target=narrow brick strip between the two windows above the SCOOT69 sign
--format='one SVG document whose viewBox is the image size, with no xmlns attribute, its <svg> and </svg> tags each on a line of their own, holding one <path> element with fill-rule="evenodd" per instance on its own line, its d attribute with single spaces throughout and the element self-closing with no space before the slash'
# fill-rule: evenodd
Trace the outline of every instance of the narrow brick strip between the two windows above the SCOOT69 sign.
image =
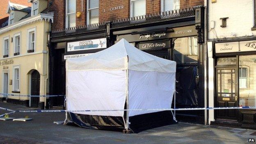
<svg viewBox="0 0 256 144">
<path fill-rule="evenodd" d="M 83 2 L 83 3 L 82 3 Z M 76 11 L 81 12 L 80 17 L 76 17 L 75 23 L 76 26 L 86 25 L 86 17 L 87 17 L 87 2 L 86 0 L 76 0 Z"/>
</svg>

